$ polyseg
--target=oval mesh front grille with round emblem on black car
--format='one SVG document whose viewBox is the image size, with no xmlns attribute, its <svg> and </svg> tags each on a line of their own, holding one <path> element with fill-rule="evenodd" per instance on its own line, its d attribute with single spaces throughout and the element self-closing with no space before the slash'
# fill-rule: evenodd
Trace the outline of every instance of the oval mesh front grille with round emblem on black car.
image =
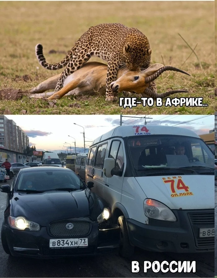
<svg viewBox="0 0 217 278">
<path fill-rule="evenodd" d="M 72 229 L 67 229 L 68 223 L 73 224 Z M 50 224 L 49 231 L 52 236 L 55 237 L 76 237 L 85 236 L 89 234 L 91 230 L 90 222 L 85 221 L 58 221 Z"/>
</svg>

